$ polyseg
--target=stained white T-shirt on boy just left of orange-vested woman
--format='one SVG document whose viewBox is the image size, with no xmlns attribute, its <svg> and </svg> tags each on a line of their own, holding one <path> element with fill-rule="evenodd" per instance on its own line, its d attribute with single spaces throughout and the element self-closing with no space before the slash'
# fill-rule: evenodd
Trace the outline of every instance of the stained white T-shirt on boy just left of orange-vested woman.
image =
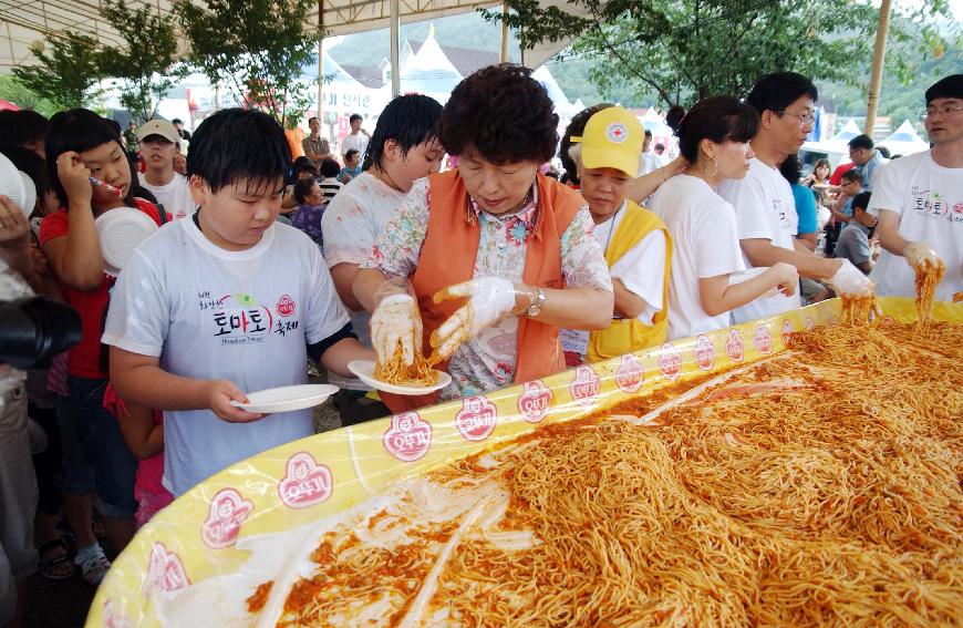
<svg viewBox="0 0 963 628">
<path fill-rule="evenodd" d="M 397 212 L 406 193 L 400 192 L 369 172 L 351 179 L 328 204 L 321 218 L 324 234 L 324 261 L 328 268 L 342 262 L 361 264 L 371 255 L 371 247 L 385 223 Z M 371 347 L 366 311 L 350 311 L 351 325 L 359 340 Z M 371 390 L 359 380 L 342 378 L 328 371 L 328 381 L 339 388 Z"/>
</svg>

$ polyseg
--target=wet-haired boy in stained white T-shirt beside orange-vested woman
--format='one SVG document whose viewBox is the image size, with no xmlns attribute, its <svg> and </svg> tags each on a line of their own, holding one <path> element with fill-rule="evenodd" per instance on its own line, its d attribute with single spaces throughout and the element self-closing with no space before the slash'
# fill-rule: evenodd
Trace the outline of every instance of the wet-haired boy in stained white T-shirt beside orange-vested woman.
<svg viewBox="0 0 963 628">
<path fill-rule="evenodd" d="M 377 234 L 401 207 L 414 182 L 438 172 L 445 154 L 436 138 L 441 116 L 442 105 L 428 96 L 408 94 L 392 100 L 374 127 L 363 172 L 331 199 L 321 219 L 324 261 L 365 347 L 371 346 L 371 315 L 351 289 L 358 266 L 371 255 Z M 367 397 L 371 389 L 358 380 L 329 372 L 328 381 L 341 388 L 335 402 L 343 425 L 391 414 L 386 405 Z"/>
</svg>

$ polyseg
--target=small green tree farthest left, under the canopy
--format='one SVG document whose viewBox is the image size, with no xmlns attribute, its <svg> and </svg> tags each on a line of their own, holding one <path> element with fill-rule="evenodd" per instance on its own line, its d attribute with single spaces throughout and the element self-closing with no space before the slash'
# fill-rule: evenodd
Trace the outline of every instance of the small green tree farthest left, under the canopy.
<svg viewBox="0 0 963 628">
<path fill-rule="evenodd" d="M 48 35 L 45 43 L 30 49 L 37 64 L 14 68 L 13 75 L 55 110 L 86 106 L 97 97 L 94 87 L 103 78 L 96 45 L 93 38 L 71 31 Z"/>
</svg>

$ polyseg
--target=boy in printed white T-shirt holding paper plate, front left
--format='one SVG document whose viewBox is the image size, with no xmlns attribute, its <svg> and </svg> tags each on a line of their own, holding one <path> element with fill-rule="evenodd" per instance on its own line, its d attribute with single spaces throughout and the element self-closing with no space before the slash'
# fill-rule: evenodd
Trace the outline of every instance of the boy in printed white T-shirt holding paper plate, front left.
<svg viewBox="0 0 963 628">
<path fill-rule="evenodd" d="M 103 337 L 111 380 L 123 399 L 165 411 L 164 484 L 175 495 L 313 432 L 310 409 L 231 405 L 244 391 L 307 383 L 308 356 L 342 375 L 350 360 L 374 359 L 318 247 L 275 223 L 289 162 L 268 115 L 206 119 L 187 157 L 200 208 L 145 240 L 114 288 Z"/>
</svg>

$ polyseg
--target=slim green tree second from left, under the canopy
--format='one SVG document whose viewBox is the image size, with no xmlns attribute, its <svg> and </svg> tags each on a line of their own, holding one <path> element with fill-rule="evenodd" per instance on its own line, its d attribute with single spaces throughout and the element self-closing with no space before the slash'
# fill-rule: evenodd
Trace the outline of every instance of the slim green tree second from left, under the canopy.
<svg viewBox="0 0 963 628">
<path fill-rule="evenodd" d="M 142 120 L 151 120 L 161 100 L 188 73 L 178 63 L 175 22 L 155 12 L 149 3 L 134 9 L 124 0 L 106 0 L 101 14 L 124 44 L 104 47 L 100 68 L 123 82 L 121 104 Z"/>
</svg>

